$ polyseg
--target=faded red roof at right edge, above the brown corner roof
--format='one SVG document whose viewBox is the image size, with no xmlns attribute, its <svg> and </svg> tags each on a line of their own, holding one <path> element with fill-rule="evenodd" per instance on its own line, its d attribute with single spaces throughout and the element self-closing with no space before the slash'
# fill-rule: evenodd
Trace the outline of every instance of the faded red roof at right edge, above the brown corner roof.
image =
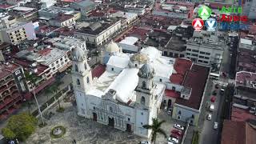
<svg viewBox="0 0 256 144">
<path fill-rule="evenodd" d="M 254 114 L 250 114 L 249 110 L 243 110 L 238 107 L 232 107 L 231 120 L 236 122 L 245 122 L 248 119 L 256 119 Z"/>
</svg>

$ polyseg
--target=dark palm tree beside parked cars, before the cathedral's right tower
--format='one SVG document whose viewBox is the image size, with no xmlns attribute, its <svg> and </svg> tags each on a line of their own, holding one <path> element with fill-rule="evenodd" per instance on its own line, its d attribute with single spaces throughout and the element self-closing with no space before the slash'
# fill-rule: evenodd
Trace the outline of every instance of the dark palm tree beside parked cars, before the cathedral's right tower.
<svg viewBox="0 0 256 144">
<path fill-rule="evenodd" d="M 162 123 L 166 121 L 163 120 L 161 122 L 158 122 L 158 118 L 152 118 L 152 121 L 152 125 L 144 125 L 143 128 L 152 130 L 151 142 L 154 142 L 155 144 L 155 140 L 158 134 L 162 134 L 165 138 L 167 138 L 166 132 L 161 128 Z"/>
</svg>

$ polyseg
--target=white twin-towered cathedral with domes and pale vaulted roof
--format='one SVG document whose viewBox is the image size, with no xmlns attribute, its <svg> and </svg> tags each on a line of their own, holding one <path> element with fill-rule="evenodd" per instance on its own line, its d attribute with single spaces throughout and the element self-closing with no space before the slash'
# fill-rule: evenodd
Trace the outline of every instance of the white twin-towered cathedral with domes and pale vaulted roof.
<svg viewBox="0 0 256 144">
<path fill-rule="evenodd" d="M 102 61 L 106 71 L 92 78 L 87 52 L 81 47 L 72 50 L 72 80 L 78 115 L 91 118 L 149 138 L 151 130 L 142 126 L 152 124 L 170 82 L 173 66 L 170 58 L 162 57 L 154 47 L 138 54 L 123 54 L 114 42 L 106 47 Z"/>
</svg>

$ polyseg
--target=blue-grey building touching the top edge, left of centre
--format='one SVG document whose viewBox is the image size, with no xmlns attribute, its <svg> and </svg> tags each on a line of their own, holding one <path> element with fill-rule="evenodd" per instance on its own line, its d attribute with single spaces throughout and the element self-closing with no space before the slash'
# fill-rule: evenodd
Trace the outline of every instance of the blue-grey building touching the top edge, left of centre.
<svg viewBox="0 0 256 144">
<path fill-rule="evenodd" d="M 96 7 L 96 3 L 90 0 L 73 2 L 70 4 L 70 8 L 79 10 L 82 15 L 87 16 Z"/>
</svg>

